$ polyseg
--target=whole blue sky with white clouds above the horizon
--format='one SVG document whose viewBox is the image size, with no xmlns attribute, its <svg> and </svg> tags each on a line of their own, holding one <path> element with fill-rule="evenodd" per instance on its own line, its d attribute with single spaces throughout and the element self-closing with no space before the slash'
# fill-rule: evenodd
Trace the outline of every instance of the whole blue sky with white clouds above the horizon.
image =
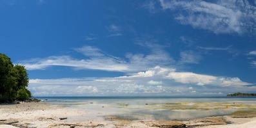
<svg viewBox="0 0 256 128">
<path fill-rule="evenodd" d="M 0 1 L 35 96 L 256 92 L 256 1 Z"/>
</svg>

